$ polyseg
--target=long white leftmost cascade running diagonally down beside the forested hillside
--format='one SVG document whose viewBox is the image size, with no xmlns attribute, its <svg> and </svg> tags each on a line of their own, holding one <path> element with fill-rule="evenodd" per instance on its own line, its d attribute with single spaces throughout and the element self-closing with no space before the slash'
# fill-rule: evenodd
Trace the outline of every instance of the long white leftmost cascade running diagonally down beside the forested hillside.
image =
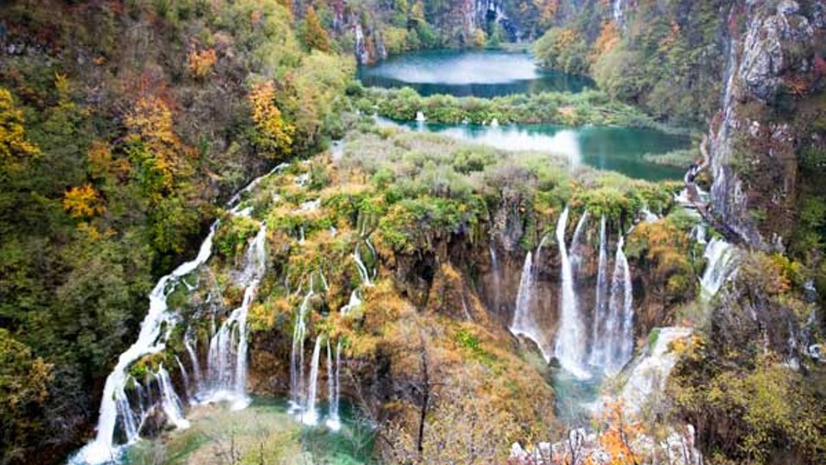
<svg viewBox="0 0 826 465">
<path fill-rule="evenodd" d="M 210 232 L 202 242 L 194 260 L 183 263 L 172 273 L 162 277 L 150 292 L 150 309 L 140 324 L 138 339 L 126 349 L 126 352 L 121 353 L 112 373 L 107 376 L 101 397 L 100 416 L 97 419 L 97 435 L 72 458 L 73 463 L 107 463 L 112 460 L 112 457 L 117 456 L 118 450 L 112 444 L 117 418 L 118 416 L 125 418 L 124 423 L 128 424 L 128 418 L 133 415 L 128 402 L 117 401 L 121 397 L 126 399 L 124 393 L 126 371 L 140 357 L 161 352 L 166 348 L 167 336 L 175 324 L 175 319 L 167 314 L 166 298 L 183 276 L 195 271 L 210 257 L 212 238 L 215 236 L 217 227 L 218 222 L 212 223 Z M 161 334 L 164 324 L 167 326 L 167 333 Z M 127 437 L 130 441 L 135 440 L 137 433 L 131 437 L 127 434 Z"/>
</svg>

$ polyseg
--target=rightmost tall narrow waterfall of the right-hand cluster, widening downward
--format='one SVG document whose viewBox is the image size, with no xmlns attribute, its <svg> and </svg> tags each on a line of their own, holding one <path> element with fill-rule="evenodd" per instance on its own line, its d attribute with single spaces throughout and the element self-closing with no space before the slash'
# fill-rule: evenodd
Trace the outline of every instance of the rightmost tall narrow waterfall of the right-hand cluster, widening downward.
<svg viewBox="0 0 826 465">
<path fill-rule="evenodd" d="M 623 252 L 624 236 L 619 236 L 611 278 L 611 296 L 605 335 L 609 345 L 605 351 L 605 372 L 619 372 L 634 352 L 634 290 L 631 271 Z"/>
</svg>

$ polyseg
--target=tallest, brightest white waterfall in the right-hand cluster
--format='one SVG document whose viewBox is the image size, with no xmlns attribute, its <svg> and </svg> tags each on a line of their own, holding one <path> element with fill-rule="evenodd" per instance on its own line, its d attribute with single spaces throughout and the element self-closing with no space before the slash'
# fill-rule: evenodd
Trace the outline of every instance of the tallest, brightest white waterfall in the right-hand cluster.
<svg viewBox="0 0 826 465">
<path fill-rule="evenodd" d="M 573 272 L 571 261 L 568 257 L 565 246 L 565 228 L 567 226 L 568 209 L 563 210 L 557 223 L 557 245 L 559 247 L 560 273 L 562 275 L 562 295 L 559 300 L 561 324 L 558 329 L 556 344 L 553 348 L 554 355 L 560 364 L 577 378 L 587 379 L 588 372 L 582 368 L 582 361 L 585 356 L 586 337 L 585 328 L 582 326 L 582 318 L 579 314 L 577 304 L 577 294 L 573 289 Z"/>
</svg>

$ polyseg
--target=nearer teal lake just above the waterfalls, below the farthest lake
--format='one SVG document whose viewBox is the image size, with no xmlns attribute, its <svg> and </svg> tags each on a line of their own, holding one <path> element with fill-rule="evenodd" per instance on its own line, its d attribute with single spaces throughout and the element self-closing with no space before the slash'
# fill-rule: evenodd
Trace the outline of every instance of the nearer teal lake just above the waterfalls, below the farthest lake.
<svg viewBox="0 0 826 465">
<path fill-rule="evenodd" d="M 663 154 L 691 146 L 686 136 L 636 127 L 563 127 L 552 124 L 479 126 L 429 122 L 394 122 L 377 117 L 382 126 L 435 132 L 506 150 L 548 151 L 567 157 L 572 165 L 618 171 L 642 180 L 681 180 L 685 170 L 646 161 L 645 154 Z"/>
</svg>

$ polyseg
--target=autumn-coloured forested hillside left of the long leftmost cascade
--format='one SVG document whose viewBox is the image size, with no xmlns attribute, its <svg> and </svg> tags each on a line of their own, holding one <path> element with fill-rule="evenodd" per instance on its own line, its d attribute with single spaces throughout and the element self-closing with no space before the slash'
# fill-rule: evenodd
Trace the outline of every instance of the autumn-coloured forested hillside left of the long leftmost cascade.
<svg viewBox="0 0 826 465">
<path fill-rule="evenodd" d="M 88 432 L 154 280 L 216 202 L 325 145 L 352 60 L 310 52 L 275 1 L 0 17 L 0 461 L 48 462 Z"/>
</svg>

